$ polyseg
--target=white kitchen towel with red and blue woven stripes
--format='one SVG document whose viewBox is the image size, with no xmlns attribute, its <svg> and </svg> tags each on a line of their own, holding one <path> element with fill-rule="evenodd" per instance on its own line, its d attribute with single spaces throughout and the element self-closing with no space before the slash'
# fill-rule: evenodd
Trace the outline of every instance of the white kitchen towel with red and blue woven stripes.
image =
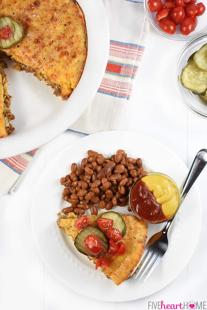
<svg viewBox="0 0 207 310">
<path fill-rule="evenodd" d="M 143 1 L 103 0 L 109 20 L 110 50 L 97 94 L 68 131 L 87 135 L 119 130 L 145 50 L 148 23 Z M 0 160 L 0 196 L 14 192 L 38 149 Z"/>
</svg>

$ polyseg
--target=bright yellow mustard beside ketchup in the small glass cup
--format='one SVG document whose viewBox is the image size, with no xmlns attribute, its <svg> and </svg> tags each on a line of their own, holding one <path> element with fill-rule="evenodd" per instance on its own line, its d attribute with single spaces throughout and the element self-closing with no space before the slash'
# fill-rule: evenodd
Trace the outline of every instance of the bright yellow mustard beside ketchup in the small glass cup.
<svg viewBox="0 0 207 310">
<path fill-rule="evenodd" d="M 161 205 L 162 213 L 169 218 L 178 208 L 179 194 L 173 182 L 164 175 L 151 174 L 142 178 L 157 203 Z"/>
</svg>

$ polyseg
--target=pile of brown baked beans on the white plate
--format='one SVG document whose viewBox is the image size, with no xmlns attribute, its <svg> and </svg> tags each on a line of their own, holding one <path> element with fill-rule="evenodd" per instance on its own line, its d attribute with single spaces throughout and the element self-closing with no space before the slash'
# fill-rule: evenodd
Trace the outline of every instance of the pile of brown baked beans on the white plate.
<svg viewBox="0 0 207 310">
<path fill-rule="evenodd" d="M 124 150 L 118 150 L 110 159 L 89 150 L 81 166 L 71 165 L 71 173 L 60 179 L 65 188 L 62 198 L 71 206 L 63 213 L 74 212 L 83 215 L 90 208 L 91 214 L 98 214 L 98 208 L 111 210 L 113 206 L 126 206 L 130 188 L 139 176 L 145 175 L 142 159 L 128 157 Z M 95 204 L 98 206 L 95 206 Z"/>
</svg>

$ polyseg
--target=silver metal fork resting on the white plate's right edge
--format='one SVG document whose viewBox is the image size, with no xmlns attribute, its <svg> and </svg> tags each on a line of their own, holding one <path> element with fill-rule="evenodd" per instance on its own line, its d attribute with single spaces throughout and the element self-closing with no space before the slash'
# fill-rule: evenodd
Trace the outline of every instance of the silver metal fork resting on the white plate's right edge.
<svg viewBox="0 0 207 310">
<path fill-rule="evenodd" d="M 183 185 L 181 192 L 180 206 L 184 201 L 185 197 L 187 196 L 187 194 L 190 192 L 196 179 L 205 168 L 206 164 L 207 164 L 207 149 L 202 149 L 196 154 L 191 169 Z M 132 276 L 133 273 L 136 271 L 136 269 L 138 269 L 135 277 L 135 279 L 138 279 L 138 281 L 140 281 L 141 279 L 143 280 L 142 283 L 146 281 L 146 279 L 150 276 L 155 267 L 160 263 L 160 260 L 163 258 L 165 252 L 167 251 L 168 248 L 167 233 L 174 217 L 169 221 L 167 221 L 164 224 L 163 229 L 160 232 L 155 233 L 147 242 L 141 261 L 131 274 Z"/>
</svg>

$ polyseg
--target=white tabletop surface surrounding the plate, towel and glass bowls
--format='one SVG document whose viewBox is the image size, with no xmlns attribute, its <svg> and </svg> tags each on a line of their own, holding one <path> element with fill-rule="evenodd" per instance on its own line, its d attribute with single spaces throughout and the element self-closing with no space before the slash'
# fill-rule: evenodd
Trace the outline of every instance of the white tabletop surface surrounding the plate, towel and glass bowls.
<svg viewBox="0 0 207 310">
<path fill-rule="evenodd" d="M 190 167 L 197 151 L 207 148 L 207 120 L 188 112 L 173 88 L 174 65 L 184 44 L 164 38 L 150 28 L 145 55 L 134 81 L 122 129 L 160 140 Z M 187 267 L 163 290 L 132 302 L 100 302 L 68 289 L 47 269 L 32 236 L 31 202 L 34 188 L 45 167 L 61 149 L 81 138 L 81 135 L 64 132 L 41 147 L 16 192 L 0 198 L 0 309 L 88 310 L 97 307 L 104 310 L 145 310 L 148 309 L 148 301 L 163 300 L 165 304 L 206 301 L 207 170 L 197 182 L 203 208 L 198 246 Z M 40 216 L 47 216 L 44 206 Z M 173 268 L 173 265 L 169 268 Z"/>
</svg>

